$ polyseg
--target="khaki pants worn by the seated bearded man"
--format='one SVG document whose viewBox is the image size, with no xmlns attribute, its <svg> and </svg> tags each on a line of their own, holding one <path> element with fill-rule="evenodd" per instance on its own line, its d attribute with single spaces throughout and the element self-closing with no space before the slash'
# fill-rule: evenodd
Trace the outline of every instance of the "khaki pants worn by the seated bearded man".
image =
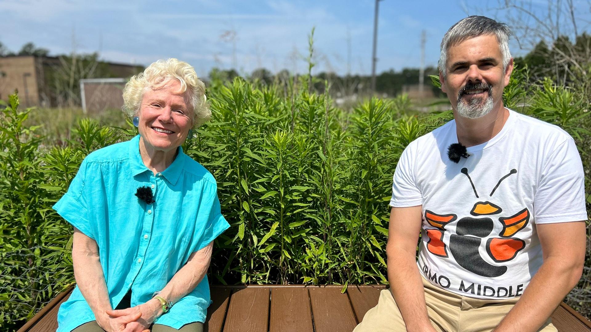
<svg viewBox="0 0 591 332">
<path fill-rule="evenodd" d="M 439 332 L 492 331 L 519 298 L 480 300 L 463 297 L 431 285 L 423 278 L 427 314 Z M 389 289 L 379 294 L 378 305 L 371 308 L 353 332 L 406 331 L 404 320 Z M 557 332 L 550 318 L 538 331 Z"/>
</svg>

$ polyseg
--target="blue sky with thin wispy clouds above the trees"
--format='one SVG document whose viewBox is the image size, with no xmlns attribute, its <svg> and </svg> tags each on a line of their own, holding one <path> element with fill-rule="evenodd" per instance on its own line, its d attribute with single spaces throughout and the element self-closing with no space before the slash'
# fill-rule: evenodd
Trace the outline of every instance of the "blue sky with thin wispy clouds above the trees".
<svg viewBox="0 0 591 332">
<path fill-rule="evenodd" d="M 531 2 L 534 9 L 547 6 L 543 0 Z M 480 1 L 476 7 L 473 1 L 381 1 L 378 73 L 418 67 L 422 30 L 426 65 L 435 66 L 441 37 L 459 19 L 468 14 L 501 21 L 514 17 L 515 10 L 496 9 L 499 3 L 504 1 Z M 589 1 L 574 3 L 577 13 L 589 19 Z M 316 73 L 345 74 L 349 67 L 352 73 L 371 72 L 374 0 L 0 0 L 0 12 L 0 42 L 12 51 L 32 41 L 51 54 L 99 51 L 104 60 L 120 63 L 147 65 L 177 57 L 200 76 L 234 62 L 241 73 L 258 67 L 303 72 L 307 35 L 316 27 Z M 579 31 L 587 27 L 580 24 Z M 235 43 L 221 37 L 226 31 L 235 31 Z M 515 41 L 512 53 L 524 53 Z"/>
</svg>

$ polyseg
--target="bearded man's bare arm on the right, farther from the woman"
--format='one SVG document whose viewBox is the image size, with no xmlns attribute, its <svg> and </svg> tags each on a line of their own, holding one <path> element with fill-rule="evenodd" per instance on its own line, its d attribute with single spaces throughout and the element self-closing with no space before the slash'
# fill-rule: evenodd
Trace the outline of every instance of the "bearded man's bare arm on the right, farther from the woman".
<svg viewBox="0 0 591 332">
<path fill-rule="evenodd" d="M 584 222 L 537 224 L 544 263 L 495 332 L 537 331 L 583 272 Z"/>
</svg>

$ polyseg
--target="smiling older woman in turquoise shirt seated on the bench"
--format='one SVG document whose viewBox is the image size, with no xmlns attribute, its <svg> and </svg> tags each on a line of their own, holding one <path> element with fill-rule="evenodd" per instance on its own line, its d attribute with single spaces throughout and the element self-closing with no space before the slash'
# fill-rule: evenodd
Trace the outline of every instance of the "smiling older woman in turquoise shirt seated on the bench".
<svg viewBox="0 0 591 332">
<path fill-rule="evenodd" d="M 125 85 L 139 135 L 88 155 L 54 206 L 74 226 L 76 277 L 58 331 L 203 330 L 213 239 L 229 227 L 212 174 L 180 147 L 210 117 L 204 92 L 174 58 Z"/>
</svg>

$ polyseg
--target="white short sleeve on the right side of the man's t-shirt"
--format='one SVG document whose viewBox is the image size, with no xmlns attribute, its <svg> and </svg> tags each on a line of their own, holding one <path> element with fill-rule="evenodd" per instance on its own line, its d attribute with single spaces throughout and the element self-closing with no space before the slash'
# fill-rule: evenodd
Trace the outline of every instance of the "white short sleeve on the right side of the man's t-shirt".
<svg viewBox="0 0 591 332">
<path fill-rule="evenodd" d="M 534 222 L 587 220 L 584 172 L 579 151 L 569 138 L 544 162 L 534 195 Z"/>
</svg>

